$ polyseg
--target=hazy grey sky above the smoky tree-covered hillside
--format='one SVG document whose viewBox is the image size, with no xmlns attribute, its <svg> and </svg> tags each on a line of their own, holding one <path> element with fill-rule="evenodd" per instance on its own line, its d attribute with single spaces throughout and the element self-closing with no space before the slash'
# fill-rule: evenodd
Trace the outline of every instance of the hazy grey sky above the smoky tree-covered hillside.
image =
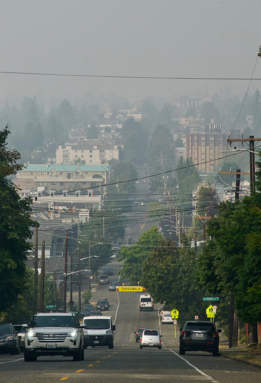
<svg viewBox="0 0 261 383">
<path fill-rule="evenodd" d="M 251 77 L 260 0 L 8 0 L 0 71 L 163 77 Z M 261 78 L 261 59 L 254 77 Z M 0 106 L 34 97 L 80 99 L 243 95 L 248 81 L 140 80 L 0 74 Z M 250 92 L 261 90 L 260 81 Z M 51 100 L 51 101 L 50 101 Z M 48 106 L 48 105 L 47 105 Z"/>
</svg>

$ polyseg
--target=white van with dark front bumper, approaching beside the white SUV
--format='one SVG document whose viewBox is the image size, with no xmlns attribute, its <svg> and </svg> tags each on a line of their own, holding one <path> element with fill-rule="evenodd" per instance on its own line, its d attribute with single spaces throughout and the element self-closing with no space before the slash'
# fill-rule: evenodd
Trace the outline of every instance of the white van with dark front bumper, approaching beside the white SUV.
<svg viewBox="0 0 261 383">
<path fill-rule="evenodd" d="M 115 325 L 112 324 L 111 316 L 85 316 L 84 348 L 88 346 L 108 346 L 113 349 L 113 337 Z"/>
</svg>

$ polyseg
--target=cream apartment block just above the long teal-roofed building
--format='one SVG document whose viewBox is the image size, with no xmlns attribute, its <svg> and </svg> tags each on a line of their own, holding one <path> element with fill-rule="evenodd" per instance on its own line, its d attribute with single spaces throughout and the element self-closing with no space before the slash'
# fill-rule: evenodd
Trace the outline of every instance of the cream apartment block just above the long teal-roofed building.
<svg viewBox="0 0 261 383">
<path fill-rule="evenodd" d="M 85 164 L 104 164 L 111 159 L 119 160 L 123 145 L 105 144 L 102 140 L 80 140 L 79 144 L 59 146 L 56 150 L 57 164 L 70 164 L 80 158 Z"/>
</svg>

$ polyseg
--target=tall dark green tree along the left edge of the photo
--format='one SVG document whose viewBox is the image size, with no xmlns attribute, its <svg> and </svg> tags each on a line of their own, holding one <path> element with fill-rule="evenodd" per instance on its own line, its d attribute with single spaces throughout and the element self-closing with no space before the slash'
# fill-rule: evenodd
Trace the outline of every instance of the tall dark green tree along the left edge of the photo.
<svg viewBox="0 0 261 383">
<path fill-rule="evenodd" d="M 18 301 L 25 288 L 25 260 L 28 250 L 33 249 L 28 239 L 30 228 L 36 227 L 30 216 L 31 198 L 21 199 L 18 188 L 7 179 L 23 169 L 17 164 L 20 154 L 7 150 L 8 127 L 0 131 L 0 312 Z"/>
</svg>

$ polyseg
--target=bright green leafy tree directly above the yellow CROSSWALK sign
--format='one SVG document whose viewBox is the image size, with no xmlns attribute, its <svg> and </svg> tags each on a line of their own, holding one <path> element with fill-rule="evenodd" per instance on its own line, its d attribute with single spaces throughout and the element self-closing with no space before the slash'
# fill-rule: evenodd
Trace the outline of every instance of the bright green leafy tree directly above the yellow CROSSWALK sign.
<svg viewBox="0 0 261 383">
<path fill-rule="evenodd" d="M 143 261 L 162 239 L 163 236 L 158 232 L 158 228 L 152 226 L 149 231 L 141 234 L 135 245 L 122 246 L 118 262 L 123 261 L 123 266 L 119 275 L 122 278 L 129 278 L 130 282 L 136 285 L 141 280 Z"/>
</svg>

